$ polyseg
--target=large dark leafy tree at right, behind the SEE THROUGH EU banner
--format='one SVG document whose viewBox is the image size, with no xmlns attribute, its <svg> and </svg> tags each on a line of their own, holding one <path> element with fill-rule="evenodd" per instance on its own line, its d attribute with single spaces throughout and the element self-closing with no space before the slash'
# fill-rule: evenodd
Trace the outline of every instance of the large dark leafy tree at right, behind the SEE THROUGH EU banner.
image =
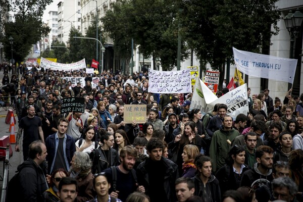
<svg viewBox="0 0 303 202">
<path fill-rule="evenodd" d="M 182 34 L 200 61 L 221 72 L 232 47 L 260 53 L 278 33 L 277 0 L 179 0 Z M 271 26 L 273 30 L 271 31 Z"/>
</svg>

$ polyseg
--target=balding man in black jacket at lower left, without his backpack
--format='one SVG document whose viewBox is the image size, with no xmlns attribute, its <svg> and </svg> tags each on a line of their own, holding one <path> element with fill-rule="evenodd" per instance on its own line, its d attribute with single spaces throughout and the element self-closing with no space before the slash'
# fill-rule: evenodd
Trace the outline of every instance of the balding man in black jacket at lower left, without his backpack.
<svg viewBox="0 0 303 202">
<path fill-rule="evenodd" d="M 18 166 L 20 198 L 22 201 L 42 201 L 42 193 L 48 189 L 47 182 L 40 165 L 46 159 L 46 146 L 40 141 L 29 145 L 28 160 Z"/>
</svg>

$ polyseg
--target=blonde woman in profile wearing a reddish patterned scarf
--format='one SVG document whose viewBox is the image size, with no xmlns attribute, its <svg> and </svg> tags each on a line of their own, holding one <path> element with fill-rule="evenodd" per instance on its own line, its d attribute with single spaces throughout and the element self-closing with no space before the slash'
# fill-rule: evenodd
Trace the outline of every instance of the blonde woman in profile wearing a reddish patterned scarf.
<svg viewBox="0 0 303 202">
<path fill-rule="evenodd" d="M 196 166 L 194 165 L 194 159 L 200 153 L 199 148 L 193 144 L 187 144 L 183 148 L 182 153 L 182 170 L 183 175 L 182 177 L 189 177 L 192 178 L 195 176 L 195 172 L 197 170 Z"/>
</svg>

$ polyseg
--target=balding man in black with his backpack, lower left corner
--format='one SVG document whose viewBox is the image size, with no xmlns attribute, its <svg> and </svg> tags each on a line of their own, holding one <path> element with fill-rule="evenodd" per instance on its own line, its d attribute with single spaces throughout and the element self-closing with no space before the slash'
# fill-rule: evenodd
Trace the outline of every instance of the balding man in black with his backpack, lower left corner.
<svg viewBox="0 0 303 202">
<path fill-rule="evenodd" d="M 48 189 L 42 165 L 46 159 L 46 146 L 40 140 L 29 145 L 28 159 L 17 168 L 17 174 L 8 183 L 6 201 L 43 201 Z"/>
</svg>

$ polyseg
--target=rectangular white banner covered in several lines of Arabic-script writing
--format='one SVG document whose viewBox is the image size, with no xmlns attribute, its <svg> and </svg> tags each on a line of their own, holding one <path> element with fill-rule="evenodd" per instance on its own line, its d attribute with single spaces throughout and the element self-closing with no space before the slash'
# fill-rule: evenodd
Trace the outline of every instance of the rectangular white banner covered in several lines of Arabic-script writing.
<svg viewBox="0 0 303 202">
<path fill-rule="evenodd" d="M 188 93 L 191 92 L 190 70 L 157 71 L 148 69 L 148 92 Z"/>
</svg>

